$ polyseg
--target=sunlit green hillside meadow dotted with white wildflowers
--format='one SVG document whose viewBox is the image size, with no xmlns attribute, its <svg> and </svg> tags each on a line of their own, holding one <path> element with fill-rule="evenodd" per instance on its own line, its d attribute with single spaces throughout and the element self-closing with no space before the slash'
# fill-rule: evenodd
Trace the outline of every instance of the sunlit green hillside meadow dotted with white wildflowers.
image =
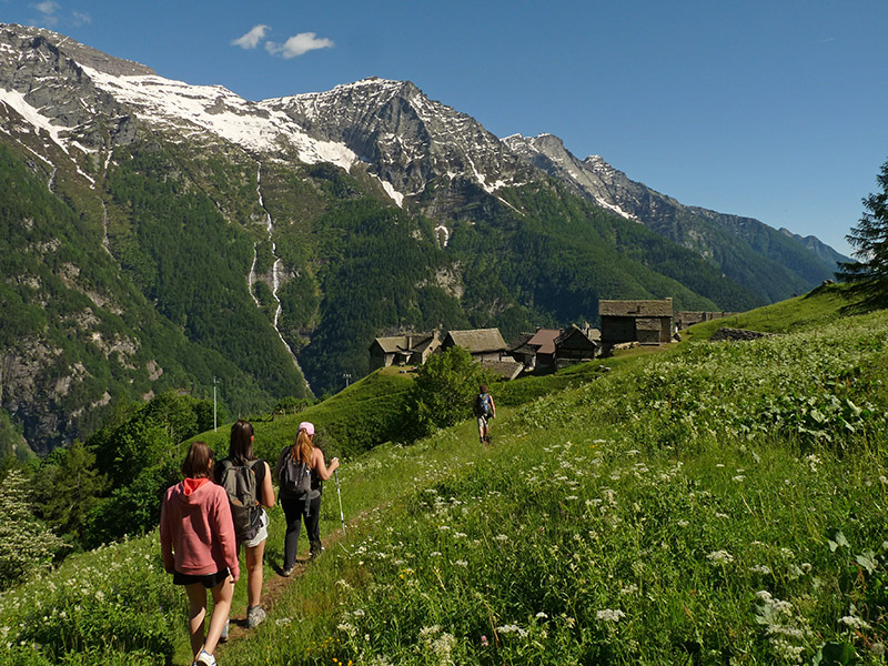
<svg viewBox="0 0 888 666">
<path fill-rule="evenodd" d="M 366 453 L 335 437 L 345 536 L 330 483 L 326 553 L 219 663 L 885 664 L 888 312 L 842 303 L 500 386 L 491 447 L 471 421 Z M 718 325 L 785 334 L 706 342 Z M 260 455 L 303 418 L 376 423 L 396 402 L 377 382 L 255 423 Z M 269 578 L 283 532 L 275 508 Z M 168 578 L 157 534 L 72 556 L 0 597 L 0 664 L 188 664 Z"/>
</svg>

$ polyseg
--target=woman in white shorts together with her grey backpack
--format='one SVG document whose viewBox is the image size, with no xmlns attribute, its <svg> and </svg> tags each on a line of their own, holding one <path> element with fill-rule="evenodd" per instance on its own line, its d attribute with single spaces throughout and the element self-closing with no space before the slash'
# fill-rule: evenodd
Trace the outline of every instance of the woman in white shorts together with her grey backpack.
<svg viewBox="0 0 888 666">
<path fill-rule="evenodd" d="M 269 514 L 274 506 L 274 486 L 269 463 L 253 455 L 253 426 L 238 421 L 231 426 L 229 457 L 213 471 L 215 482 L 225 488 L 231 502 L 238 547 L 246 554 L 246 627 L 252 629 L 265 619 L 262 597 L 262 559 L 269 537 Z M 228 639 L 228 625 L 222 639 Z"/>
</svg>

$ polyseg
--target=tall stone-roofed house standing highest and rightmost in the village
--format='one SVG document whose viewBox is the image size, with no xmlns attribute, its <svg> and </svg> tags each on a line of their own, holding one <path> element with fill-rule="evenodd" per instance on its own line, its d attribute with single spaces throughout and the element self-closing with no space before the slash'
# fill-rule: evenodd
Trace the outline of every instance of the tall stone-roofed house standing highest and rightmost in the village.
<svg viewBox="0 0 888 666">
<path fill-rule="evenodd" d="M 673 300 L 598 301 L 602 344 L 664 344 L 673 339 Z"/>
</svg>

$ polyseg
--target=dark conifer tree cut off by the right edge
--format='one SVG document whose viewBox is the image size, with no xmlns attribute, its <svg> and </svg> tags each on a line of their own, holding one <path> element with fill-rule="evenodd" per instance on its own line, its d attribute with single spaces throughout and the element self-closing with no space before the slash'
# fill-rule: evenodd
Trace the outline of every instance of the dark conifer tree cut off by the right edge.
<svg viewBox="0 0 888 666">
<path fill-rule="evenodd" d="M 881 191 L 864 199 L 864 216 L 846 240 L 859 261 L 841 263 L 836 278 L 851 283 L 865 307 L 888 306 L 888 161 L 876 178 Z"/>
</svg>

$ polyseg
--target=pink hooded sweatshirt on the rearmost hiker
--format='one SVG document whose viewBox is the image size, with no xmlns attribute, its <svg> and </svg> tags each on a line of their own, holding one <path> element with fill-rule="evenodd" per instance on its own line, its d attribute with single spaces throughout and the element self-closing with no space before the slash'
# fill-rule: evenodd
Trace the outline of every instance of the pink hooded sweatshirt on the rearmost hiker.
<svg viewBox="0 0 888 666">
<path fill-rule="evenodd" d="M 228 567 L 241 575 L 229 497 L 209 478 L 185 478 L 171 486 L 160 512 L 163 567 L 205 576 Z"/>
</svg>

